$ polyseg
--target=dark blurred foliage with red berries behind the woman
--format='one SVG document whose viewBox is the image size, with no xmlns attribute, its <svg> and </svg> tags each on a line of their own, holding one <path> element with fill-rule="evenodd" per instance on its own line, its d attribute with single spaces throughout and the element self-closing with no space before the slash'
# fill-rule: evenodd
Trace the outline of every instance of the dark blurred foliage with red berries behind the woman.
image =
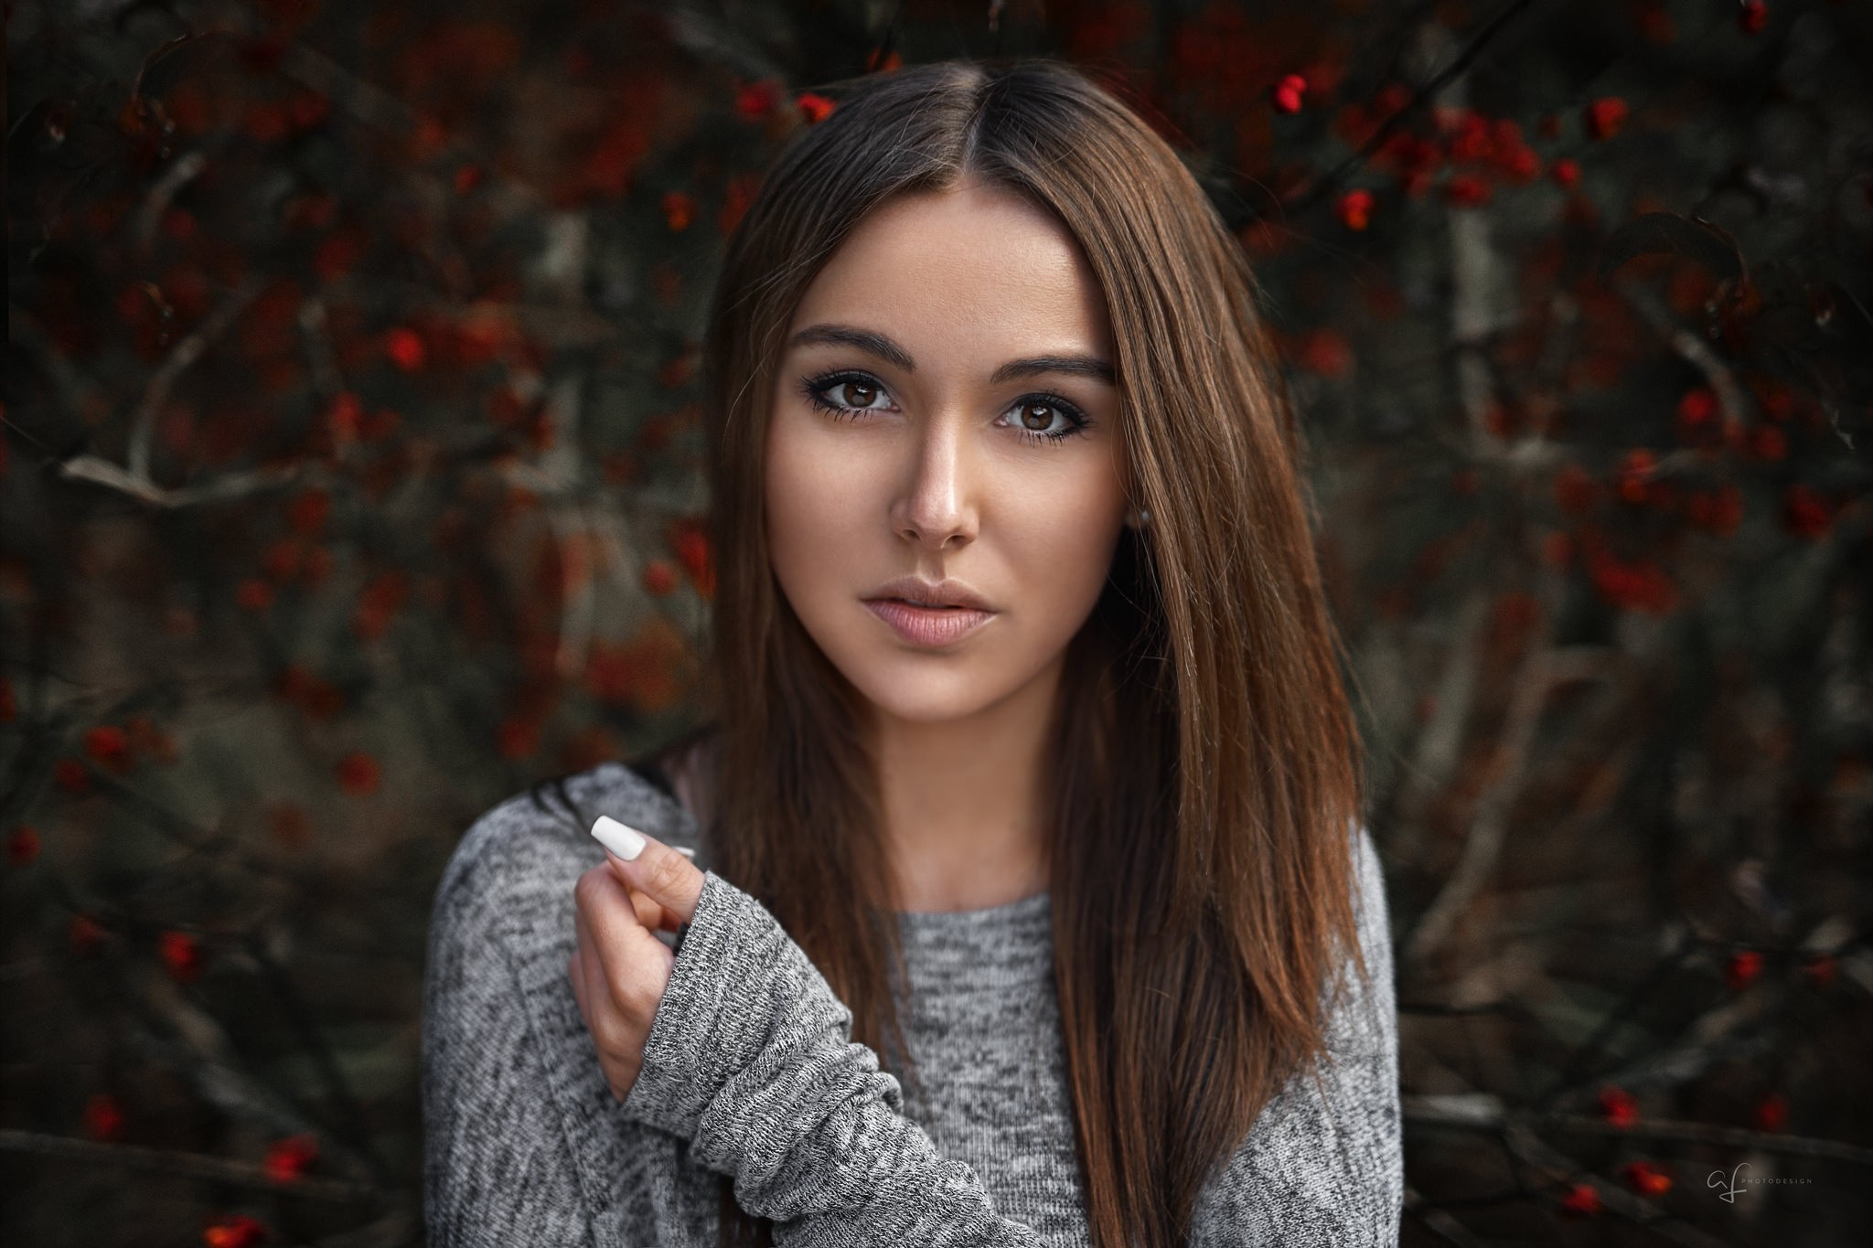
<svg viewBox="0 0 1873 1248">
<path fill-rule="evenodd" d="M 9 1242 L 420 1242 L 455 838 L 695 713 L 723 232 L 815 84 L 1030 52 L 1189 152 L 1292 365 L 1405 1239 L 1864 1241 L 1873 6 L 41 0 L 7 39 Z"/>
</svg>

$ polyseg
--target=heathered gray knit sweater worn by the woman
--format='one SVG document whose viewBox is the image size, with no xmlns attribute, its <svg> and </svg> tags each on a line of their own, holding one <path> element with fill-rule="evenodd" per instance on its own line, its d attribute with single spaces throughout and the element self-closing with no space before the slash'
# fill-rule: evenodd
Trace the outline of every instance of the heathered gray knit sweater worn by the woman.
<svg viewBox="0 0 1873 1248">
<path fill-rule="evenodd" d="M 717 1175 L 775 1242 L 1088 1244 L 1073 1153 L 1049 894 L 905 913 L 905 1029 L 931 1104 L 910 1104 L 774 917 L 708 870 L 695 820 L 622 763 L 474 823 L 436 892 L 423 1009 L 429 1239 L 712 1248 Z M 599 1070 L 566 960 L 573 881 L 599 814 L 697 849 L 706 874 L 624 1104 Z M 1204 1188 L 1195 1244 L 1394 1244 L 1405 1192 L 1384 883 L 1360 831 L 1373 992 L 1330 1022 Z"/>
</svg>

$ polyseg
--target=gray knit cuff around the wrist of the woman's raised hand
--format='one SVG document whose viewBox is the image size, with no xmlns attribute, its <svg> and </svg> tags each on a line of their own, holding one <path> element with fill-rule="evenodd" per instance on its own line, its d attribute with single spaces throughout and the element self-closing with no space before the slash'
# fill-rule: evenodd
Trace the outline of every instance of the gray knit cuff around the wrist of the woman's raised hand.
<svg viewBox="0 0 1873 1248">
<path fill-rule="evenodd" d="M 757 1059 L 798 1061 L 850 1035 L 852 1012 L 768 907 L 704 872 L 622 1111 L 695 1141 L 723 1087 Z"/>
</svg>

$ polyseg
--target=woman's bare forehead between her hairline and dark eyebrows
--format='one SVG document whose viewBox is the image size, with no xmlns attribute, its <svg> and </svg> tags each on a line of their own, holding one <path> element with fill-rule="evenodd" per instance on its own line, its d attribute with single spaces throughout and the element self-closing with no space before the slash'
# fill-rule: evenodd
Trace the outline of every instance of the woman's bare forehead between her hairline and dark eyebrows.
<svg viewBox="0 0 1873 1248">
<path fill-rule="evenodd" d="M 920 372 L 944 348 L 993 356 L 989 367 L 1030 348 L 1111 359 L 1105 297 L 1079 243 L 1051 211 L 980 183 L 867 213 L 813 279 L 792 329 L 824 322 L 897 339 Z"/>
</svg>

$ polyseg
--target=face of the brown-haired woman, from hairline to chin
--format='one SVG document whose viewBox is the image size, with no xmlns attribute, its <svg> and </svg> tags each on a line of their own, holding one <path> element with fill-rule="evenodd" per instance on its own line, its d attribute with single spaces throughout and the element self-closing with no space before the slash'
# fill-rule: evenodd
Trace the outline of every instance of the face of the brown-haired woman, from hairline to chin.
<svg viewBox="0 0 1873 1248">
<path fill-rule="evenodd" d="M 789 327 L 766 458 L 775 578 L 886 717 L 1051 694 L 1124 524 L 1116 447 L 1111 326 L 1071 234 L 974 183 L 893 198 Z M 961 582 L 993 614 L 907 640 L 867 602 L 899 576 Z"/>
</svg>

